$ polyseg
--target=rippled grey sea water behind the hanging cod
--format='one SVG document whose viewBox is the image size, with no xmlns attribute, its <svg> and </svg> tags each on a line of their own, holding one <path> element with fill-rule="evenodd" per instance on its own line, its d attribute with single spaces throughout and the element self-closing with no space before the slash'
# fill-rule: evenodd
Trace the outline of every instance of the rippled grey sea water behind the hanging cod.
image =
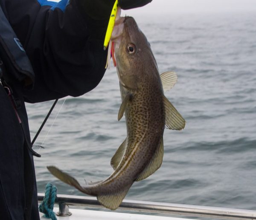
<svg viewBox="0 0 256 220">
<path fill-rule="evenodd" d="M 256 14 L 136 20 L 160 72 L 177 72 L 178 82 L 166 97 L 186 119 L 186 127 L 165 130 L 161 168 L 135 182 L 126 199 L 255 210 Z M 44 147 L 34 148 L 42 155 L 35 158 L 38 192 L 52 182 L 59 194 L 84 195 L 53 177 L 46 166 L 55 165 L 81 182 L 112 173 L 111 157 L 126 137 L 125 119 L 117 121 L 121 98 L 116 69 L 107 70 L 93 91 L 63 102 L 58 101 L 35 143 Z M 26 104 L 32 138 L 52 103 Z"/>
</svg>

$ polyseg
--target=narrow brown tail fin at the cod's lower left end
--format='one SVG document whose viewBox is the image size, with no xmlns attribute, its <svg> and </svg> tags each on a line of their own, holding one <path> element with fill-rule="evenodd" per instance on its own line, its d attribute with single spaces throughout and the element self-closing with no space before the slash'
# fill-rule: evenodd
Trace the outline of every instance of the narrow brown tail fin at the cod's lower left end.
<svg viewBox="0 0 256 220">
<path fill-rule="evenodd" d="M 62 182 L 65 182 L 69 185 L 74 186 L 75 188 L 79 189 L 80 191 L 83 191 L 83 187 L 79 184 L 79 182 L 74 177 L 71 177 L 69 174 L 61 171 L 60 169 L 56 168 L 55 166 L 47 166 L 47 169 L 51 172 L 51 174 L 53 176 L 57 177 Z"/>
</svg>

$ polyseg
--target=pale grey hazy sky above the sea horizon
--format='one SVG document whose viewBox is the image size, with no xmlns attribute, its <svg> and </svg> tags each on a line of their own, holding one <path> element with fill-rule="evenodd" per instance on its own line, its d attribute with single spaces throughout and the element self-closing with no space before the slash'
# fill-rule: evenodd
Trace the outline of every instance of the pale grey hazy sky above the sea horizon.
<svg viewBox="0 0 256 220">
<path fill-rule="evenodd" d="M 256 0 L 153 0 L 147 6 L 124 11 L 122 15 L 250 11 L 256 16 Z"/>
</svg>

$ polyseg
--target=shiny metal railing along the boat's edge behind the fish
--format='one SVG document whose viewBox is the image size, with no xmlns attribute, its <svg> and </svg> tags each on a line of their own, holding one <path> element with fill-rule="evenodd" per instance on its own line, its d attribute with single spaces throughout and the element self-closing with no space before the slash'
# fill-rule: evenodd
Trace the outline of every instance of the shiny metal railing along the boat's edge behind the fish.
<svg viewBox="0 0 256 220">
<path fill-rule="evenodd" d="M 38 200 L 42 201 L 43 193 L 38 193 Z M 95 197 L 71 196 L 58 194 L 58 204 L 60 215 L 68 215 L 68 206 L 85 206 L 91 208 L 103 208 Z M 67 206 L 65 206 L 65 204 Z M 123 200 L 118 210 L 140 211 L 158 214 L 178 214 L 193 217 L 211 217 L 218 219 L 256 219 L 256 211 L 236 209 L 236 208 L 217 208 L 209 206 L 192 206 L 173 203 L 155 203 L 135 200 Z M 66 212 L 66 213 L 64 213 Z M 63 213 L 63 214 L 61 214 Z"/>
</svg>

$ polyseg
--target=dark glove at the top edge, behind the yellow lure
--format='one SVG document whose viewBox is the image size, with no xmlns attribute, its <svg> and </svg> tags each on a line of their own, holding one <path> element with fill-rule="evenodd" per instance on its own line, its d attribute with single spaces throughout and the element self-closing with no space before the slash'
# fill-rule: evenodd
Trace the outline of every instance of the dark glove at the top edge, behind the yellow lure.
<svg viewBox="0 0 256 220">
<path fill-rule="evenodd" d="M 133 9 L 144 6 L 152 0 L 119 0 L 121 9 Z M 81 8 L 94 20 L 109 19 L 115 0 L 77 0 Z"/>
</svg>

